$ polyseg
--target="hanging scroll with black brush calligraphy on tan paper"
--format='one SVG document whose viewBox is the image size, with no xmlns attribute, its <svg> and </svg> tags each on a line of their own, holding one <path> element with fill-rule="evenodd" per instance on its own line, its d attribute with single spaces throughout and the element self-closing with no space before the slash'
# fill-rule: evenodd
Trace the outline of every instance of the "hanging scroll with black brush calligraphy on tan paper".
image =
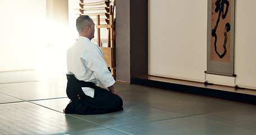
<svg viewBox="0 0 256 135">
<path fill-rule="evenodd" d="M 234 74 L 235 0 L 208 0 L 207 73 Z"/>
</svg>

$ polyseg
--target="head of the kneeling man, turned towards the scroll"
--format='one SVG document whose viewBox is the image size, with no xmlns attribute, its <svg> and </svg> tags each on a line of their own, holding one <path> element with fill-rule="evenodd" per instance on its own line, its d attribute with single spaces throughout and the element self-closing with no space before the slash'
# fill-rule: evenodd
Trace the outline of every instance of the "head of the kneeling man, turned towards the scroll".
<svg viewBox="0 0 256 135">
<path fill-rule="evenodd" d="M 80 36 L 88 39 L 94 38 L 95 24 L 88 15 L 79 16 L 77 19 L 77 31 Z"/>
</svg>

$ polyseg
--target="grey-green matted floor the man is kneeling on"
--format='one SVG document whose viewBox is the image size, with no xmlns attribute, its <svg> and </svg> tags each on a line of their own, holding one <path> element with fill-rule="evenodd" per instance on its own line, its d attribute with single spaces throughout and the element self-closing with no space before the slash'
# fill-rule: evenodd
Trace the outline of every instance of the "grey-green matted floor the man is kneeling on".
<svg viewBox="0 0 256 135">
<path fill-rule="evenodd" d="M 0 73 L 0 134 L 256 134 L 254 105 L 133 84 L 114 87 L 123 111 L 64 114 L 65 73 Z"/>
</svg>

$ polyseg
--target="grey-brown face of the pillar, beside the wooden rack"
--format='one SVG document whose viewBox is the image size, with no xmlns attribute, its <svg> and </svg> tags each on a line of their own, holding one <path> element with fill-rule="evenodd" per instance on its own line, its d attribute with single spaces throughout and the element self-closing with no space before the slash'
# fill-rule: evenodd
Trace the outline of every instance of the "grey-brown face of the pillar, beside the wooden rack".
<svg viewBox="0 0 256 135">
<path fill-rule="evenodd" d="M 130 82 L 130 1 L 116 1 L 116 80 Z"/>
</svg>

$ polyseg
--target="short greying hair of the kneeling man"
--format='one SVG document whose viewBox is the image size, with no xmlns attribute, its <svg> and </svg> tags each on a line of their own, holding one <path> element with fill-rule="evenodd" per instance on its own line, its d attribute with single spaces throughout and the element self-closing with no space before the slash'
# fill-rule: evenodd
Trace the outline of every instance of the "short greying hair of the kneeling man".
<svg viewBox="0 0 256 135">
<path fill-rule="evenodd" d="M 92 22 L 88 15 L 83 15 L 78 17 L 76 25 L 78 33 L 82 33 L 86 26 L 89 26 L 89 28 L 91 28 Z"/>
</svg>

